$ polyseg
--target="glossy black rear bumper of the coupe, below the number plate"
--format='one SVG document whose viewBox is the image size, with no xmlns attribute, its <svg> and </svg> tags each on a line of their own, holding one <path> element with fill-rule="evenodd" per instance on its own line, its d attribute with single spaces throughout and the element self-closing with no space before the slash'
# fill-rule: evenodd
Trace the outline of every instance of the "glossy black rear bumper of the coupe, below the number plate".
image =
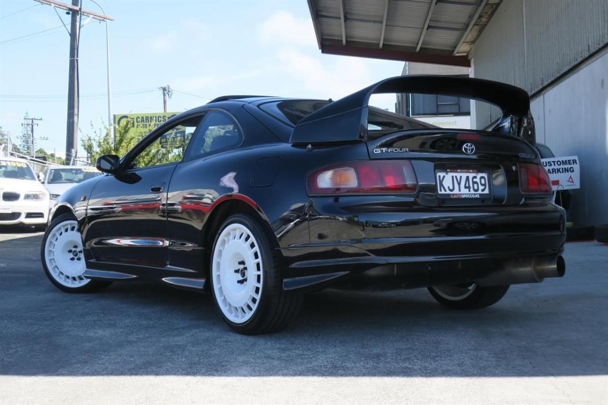
<svg viewBox="0 0 608 405">
<path fill-rule="evenodd" d="M 564 210 L 550 202 L 420 211 L 316 216 L 312 243 L 281 249 L 283 287 L 323 287 L 353 276 L 406 288 L 457 284 L 485 279 L 513 260 L 554 260 L 563 251 Z M 339 236 L 354 237 L 331 240 Z"/>
</svg>

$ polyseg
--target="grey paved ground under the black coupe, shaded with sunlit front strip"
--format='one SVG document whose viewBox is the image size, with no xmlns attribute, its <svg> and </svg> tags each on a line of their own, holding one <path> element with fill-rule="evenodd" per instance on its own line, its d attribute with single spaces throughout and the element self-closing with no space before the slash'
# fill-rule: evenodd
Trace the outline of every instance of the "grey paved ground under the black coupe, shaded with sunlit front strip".
<svg viewBox="0 0 608 405">
<path fill-rule="evenodd" d="M 240 336 L 206 295 L 145 282 L 62 293 L 41 239 L 0 231 L 2 404 L 608 403 L 599 243 L 568 244 L 563 279 L 486 310 L 446 310 L 426 290 L 330 290 L 287 330 Z"/>
</svg>

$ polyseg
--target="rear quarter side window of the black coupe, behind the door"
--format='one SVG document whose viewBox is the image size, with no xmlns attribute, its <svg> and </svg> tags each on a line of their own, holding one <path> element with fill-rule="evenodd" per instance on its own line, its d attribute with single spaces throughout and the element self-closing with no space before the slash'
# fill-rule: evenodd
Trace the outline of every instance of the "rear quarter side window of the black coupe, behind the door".
<svg viewBox="0 0 608 405">
<path fill-rule="evenodd" d="M 243 135 L 230 115 L 221 111 L 209 111 L 202 117 L 199 131 L 184 160 L 236 148 L 241 140 Z"/>
</svg>

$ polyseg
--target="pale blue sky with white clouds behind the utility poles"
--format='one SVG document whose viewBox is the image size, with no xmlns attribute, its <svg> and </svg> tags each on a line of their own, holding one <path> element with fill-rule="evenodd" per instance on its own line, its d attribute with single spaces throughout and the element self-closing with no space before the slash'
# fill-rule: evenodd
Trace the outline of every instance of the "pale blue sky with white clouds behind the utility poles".
<svg viewBox="0 0 608 405">
<path fill-rule="evenodd" d="M 170 111 L 224 94 L 339 98 L 399 75 L 403 66 L 322 55 L 305 0 L 97 2 L 114 18 L 113 114 L 162 111 L 157 87 L 165 84 L 175 90 Z M 0 126 L 15 140 L 26 111 L 41 117 L 36 134 L 49 140 L 38 145 L 62 155 L 69 36 L 52 7 L 36 4 L 0 0 Z M 83 9 L 99 10 L 89 0 Z M 69 16 L 60 15 L 69 24 Z M 101 128 L 107 121 L 105 46 L 104 23 L 89 21 L 80 38 L 81 134 L 91 133 L 91 123 Z M 378 97 L 376 105 L 393 109 L 394 95 Z"/>
</svg>

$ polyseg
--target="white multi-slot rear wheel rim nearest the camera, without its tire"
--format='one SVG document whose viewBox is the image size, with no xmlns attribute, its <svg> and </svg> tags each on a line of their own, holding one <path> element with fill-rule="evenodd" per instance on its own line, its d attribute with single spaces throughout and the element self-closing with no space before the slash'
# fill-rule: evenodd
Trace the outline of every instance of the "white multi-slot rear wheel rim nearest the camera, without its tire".
<svg viewBox="0 0 608 405">
<path fill-rule="evenodd" d="M 252 231 L 230 223 L 213 249 L 213 293 L 219 309 L 234 324 L 247 322 L 260 305 L 263 267 L 261 251 Z"/>
</svg>

